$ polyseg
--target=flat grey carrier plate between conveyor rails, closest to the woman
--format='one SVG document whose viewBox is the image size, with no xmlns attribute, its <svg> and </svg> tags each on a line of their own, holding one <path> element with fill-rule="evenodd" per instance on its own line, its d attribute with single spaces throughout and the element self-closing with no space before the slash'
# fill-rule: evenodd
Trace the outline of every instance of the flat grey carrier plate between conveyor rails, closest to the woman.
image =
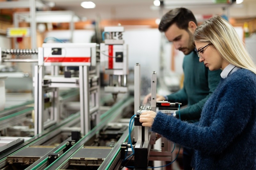
<svg viewBox="0 0 256 170">
<path fill-rule="evenodd" d="M 69 159 L 69 165 L 100 166 L 111 150 L 112 147 L 85 146 Z"/>
</svg>

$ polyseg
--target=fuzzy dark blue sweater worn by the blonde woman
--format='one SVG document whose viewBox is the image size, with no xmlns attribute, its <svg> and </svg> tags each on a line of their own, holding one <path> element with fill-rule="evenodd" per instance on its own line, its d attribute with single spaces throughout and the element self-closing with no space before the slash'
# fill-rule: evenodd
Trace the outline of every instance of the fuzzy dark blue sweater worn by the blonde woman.
<svg viewBox="0 0 256 170">
<path fill-rule="evenodd" d="M 256 169 L 256 75 L 239 69 L 221 79 L 198 124 L 158 112 L 152 131 L 195 149 L 196 170 Z"/>
</svg>

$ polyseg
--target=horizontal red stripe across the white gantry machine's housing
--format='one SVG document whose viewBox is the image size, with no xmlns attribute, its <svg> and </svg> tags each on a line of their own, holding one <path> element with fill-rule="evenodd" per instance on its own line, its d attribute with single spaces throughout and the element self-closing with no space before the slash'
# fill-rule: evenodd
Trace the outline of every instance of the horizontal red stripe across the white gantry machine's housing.
<svg viewBox="0 0 256 170">
<path fill-rule="evenodd" d="M 44 57 L 44 62 L 62 63 L 62 62 L 91 62 L 91 57 Z"/>
</svg>

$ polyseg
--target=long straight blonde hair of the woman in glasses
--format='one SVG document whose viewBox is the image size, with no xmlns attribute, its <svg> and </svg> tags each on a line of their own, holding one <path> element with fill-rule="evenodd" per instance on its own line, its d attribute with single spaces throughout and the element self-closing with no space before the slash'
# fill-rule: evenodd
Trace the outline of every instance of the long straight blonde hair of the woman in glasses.
<svg viewBox="0 0 256 170">
<path fill-rule="evenodd" d="M 214 16 L 196 28 L 193 41 L 212 43 L 228 63 L 251 70 L 256 74 L 256 65 L 252 61 L 239 39 L 234 27 L 220 16 Z"/>
</svg>

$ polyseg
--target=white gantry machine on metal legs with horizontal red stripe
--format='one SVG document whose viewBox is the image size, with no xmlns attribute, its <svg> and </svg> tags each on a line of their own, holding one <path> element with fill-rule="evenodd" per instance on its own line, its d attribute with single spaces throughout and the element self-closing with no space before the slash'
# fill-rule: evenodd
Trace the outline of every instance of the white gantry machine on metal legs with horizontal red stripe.
<svg viewBox="0 0 256 170">
<path fill-rule="evenodd" d="M 96 120 L 96 124 L 99 123 L 100 67 L 96 60 L 96 48 L 96 43 L 45 43 L 38 48 L 38 65 L 35 66 L 34 78 L 35 135 L 47 126 L 59 122 L 60 87 L 79 88 L 82 135 L 91 130 L 92 118 Z M 59 75 L 59 66 L 79 66 L 79 76 Z M 45 67 L 52 68 L 51 75 L 45 75 Z M 46 125 L 44 94 L 49 92 L 52 92 L 52 114 L 51 122 Z"/>
</svg>

